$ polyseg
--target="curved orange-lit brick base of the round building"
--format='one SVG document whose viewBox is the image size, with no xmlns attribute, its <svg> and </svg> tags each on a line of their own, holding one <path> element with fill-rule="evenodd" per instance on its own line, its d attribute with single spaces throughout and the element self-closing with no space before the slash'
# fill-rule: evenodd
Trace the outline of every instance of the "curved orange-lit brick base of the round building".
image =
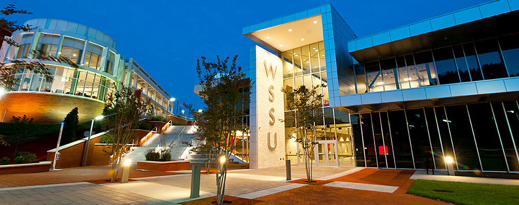
<svg viewBox="0 0 519 205">
<path fill-rule="evenodd" d="M 85 123 L 103 112 L 104 103 L 50 93 L 6 93 L 0 99 L 0 120 L 4 119 L 5 113 L 4 122 L 11 122 L 12 116 L 25 114 L 34 118 L 34 123 L 61 123 L 75 107 L 79 111 L 79 123 Z"/>
</svg>

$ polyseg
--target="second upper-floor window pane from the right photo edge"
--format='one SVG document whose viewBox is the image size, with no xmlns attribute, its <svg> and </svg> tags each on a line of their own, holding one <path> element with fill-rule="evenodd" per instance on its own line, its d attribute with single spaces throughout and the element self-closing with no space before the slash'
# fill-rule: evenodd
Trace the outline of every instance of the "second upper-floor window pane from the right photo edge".
<svg viewBox="0 0 519 205">
<path fill-rule="evenodd" d="M 475 45 L 485 80 L 508 77 L 496 38 L 475 41 Z"/>
</svg>

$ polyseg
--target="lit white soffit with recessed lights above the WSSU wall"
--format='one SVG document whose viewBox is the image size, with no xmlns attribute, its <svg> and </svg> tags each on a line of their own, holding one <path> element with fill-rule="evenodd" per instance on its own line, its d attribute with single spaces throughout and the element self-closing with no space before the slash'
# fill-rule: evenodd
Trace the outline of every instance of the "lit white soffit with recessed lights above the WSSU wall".
<svg viewBox="0 0 519 205">
<path fill-rule="evenodd" d="M 321 14 L 244 34 L 271 51 L 280 53 L 323 40 Z"/>
</svg>

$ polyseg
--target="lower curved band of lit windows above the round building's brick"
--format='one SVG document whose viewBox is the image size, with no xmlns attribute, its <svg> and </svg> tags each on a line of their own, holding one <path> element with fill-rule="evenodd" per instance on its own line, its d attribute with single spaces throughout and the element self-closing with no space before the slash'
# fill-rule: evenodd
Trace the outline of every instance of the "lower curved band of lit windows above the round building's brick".
<svg viewBox="0 0 519 205">
<path fill-rule="evenodd" d="M 49 92 L 65 95 L 83 96 L 105 101 L 114 92 L 115 82 L 103 75 L 86 70 L 68 67 L 46 65 L 53 75 L 53 81 L 48 82 L 42 74 L 34 74 L 30 70 L 17 71 L 11 77 L 20 79 L 19 85 L 12 91 Z"/>
</svg>

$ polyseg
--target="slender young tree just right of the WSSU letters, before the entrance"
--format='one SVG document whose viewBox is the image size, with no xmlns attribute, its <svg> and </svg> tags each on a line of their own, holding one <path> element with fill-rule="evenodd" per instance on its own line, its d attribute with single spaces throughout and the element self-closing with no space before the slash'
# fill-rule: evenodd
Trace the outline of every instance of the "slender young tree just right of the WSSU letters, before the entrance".
<svg viewBox="0 0 519 205">
<path fill-rule="evenodd" d="M 313 149 L 317 144 L 317 140 L 321 138 L 317 134 L 317 126 L 315 122 L 322 121 L 324 113 L 322 111 L 323 95 L 319 94 L 321 87 L 326 85 L 316 85 L 308 89 L 305 85 L 301 85 L 295 90 L 281 91 L 286 96 L 286 106 L 290 110 L 289 116 L 296 119 L 294 133 L 291 136 L 301 145 L 299 152 L 304 153 L 304 161 L 306 168 L 306 178 L 308 182 L 312 182 L 312 160 Z M 301 156 L 301 155 L 300 155 Z"/>
</svg>

